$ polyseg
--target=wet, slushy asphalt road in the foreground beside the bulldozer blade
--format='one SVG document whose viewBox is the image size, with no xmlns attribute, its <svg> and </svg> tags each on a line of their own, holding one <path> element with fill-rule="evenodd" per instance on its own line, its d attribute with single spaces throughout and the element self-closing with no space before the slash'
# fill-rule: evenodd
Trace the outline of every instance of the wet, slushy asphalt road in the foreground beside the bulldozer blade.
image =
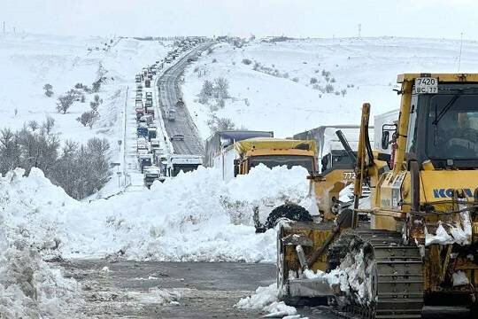
<svg viewBox="0 0 478 319">
<path fill-rule="evenodd" d="M 87 301 L 77 316 L 101 319 L 260 318 L 266 314 L 234 305 L 275 276 L 271 264 L 231 262 L 96 260 L 61 266 L 81 283 Z"/>
</svg>

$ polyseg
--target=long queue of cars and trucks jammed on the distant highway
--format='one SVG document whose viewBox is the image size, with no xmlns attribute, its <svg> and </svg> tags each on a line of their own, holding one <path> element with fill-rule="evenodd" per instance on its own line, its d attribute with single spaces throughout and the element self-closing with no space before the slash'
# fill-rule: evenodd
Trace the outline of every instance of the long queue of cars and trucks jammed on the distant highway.
<svg viewBox="0 0 478 319">
<path fill-rule="evenodd" d="M 177 153 L 174 143 L 184 141 L 183 134 L 168 136 L 166 126 L 176 121 L 178 107 L 185 107 L 181 97 L 175 105 L 163 105 L 159 98 L 158 77 L 167 74 L 168 68 L 197 46 L 202 38 L 189 38 L 176 43 L 166 58 L 144 67 L 136 74 L 135 115 L 136 115 L 136 156 L 138 169 L 143 174 L 144 185 L 148 188 L 154 181 L 164 182 L 167 178 L 188 172 L 203 164 L 202 156 Z M 189 56 L 188 62 L 197 60 Z M 156 91 L 155 91 L 156 90 Z"/>
</svg>

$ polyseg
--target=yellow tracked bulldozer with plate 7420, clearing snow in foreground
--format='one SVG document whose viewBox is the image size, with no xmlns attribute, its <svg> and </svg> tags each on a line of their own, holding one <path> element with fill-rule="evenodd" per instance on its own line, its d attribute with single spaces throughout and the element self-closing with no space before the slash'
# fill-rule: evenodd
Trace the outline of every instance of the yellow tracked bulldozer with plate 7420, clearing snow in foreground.
<svg viewBox="0 0 478 319">
<path fill-rule="evenodd" d="M 370 105 L 362 107 L 354 205 L 320 222 L 279 224 L 281 299 L 327 297 L 365 318 L 420 318 L 425 305 L 478 318 L 478 74 L 397 82 L 399 119 L 381 141 L 391 156 L 372 149 Z M 360 209 L 365 185 L 370 207 Z"/>
</svg>

